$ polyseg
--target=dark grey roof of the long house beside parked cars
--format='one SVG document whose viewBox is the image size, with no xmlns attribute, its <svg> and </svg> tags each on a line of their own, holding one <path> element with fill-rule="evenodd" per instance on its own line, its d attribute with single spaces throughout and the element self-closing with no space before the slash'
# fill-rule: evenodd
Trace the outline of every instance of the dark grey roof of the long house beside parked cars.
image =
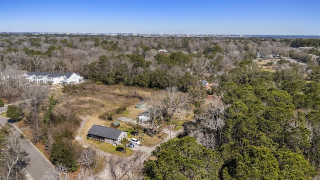
<svg viewBox="0 0 320 180">
<path fill-rule="evenodd" d="M 122 130 L 119 129 L 96 124 L 93 124 L 88 131 L 89 134 L 98 135 L 110 139 L 117 139 L 120 136 L 121 132 Z"/>
</svg>

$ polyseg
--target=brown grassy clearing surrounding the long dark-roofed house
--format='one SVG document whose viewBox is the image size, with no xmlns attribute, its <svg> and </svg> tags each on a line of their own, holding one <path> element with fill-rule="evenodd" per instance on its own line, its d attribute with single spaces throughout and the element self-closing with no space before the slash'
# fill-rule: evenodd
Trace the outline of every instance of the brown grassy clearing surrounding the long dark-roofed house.
<svg viewBox="0 0 320 180">
<path fill-rule="evenodd" d="M 156 91 L 157 93 L 163 93 L 163 91 Z M 110 123 L 116 120 L 117 117 L 127 117 L 136 119 L 137 116 L 142 113 L 144 110 L 135 108 L 135 104 L 140 102 L 140 100 L 145 100 L 155 93 L 153 89 L 144 89 L 139 87 L 128 87 L 121 85 L 96 85 L 90 83 L 83 83 L 77 85 L 77 87 L 70 92 L 69 104 L 71 108 L 77 109 L 77 116 L 86 119 L 86 122 L 82 129 L 80 130 L 80 135 L 84 140 L 80 140 L 80 143 L 88 143 L 96 146 L 97 148 L 113 153 L 121 153 L 115 151 L 115 147 L 109 144 L 101 144 L 93 140 L 86 139 L 87 131 L 93 124 L 110 126 Z M 147 101 L 146 101 L 147 102 Z M 65 102 L 64 102 L 65 103 Z M 64 104 L 65 105 L 65 104 Z M 63 106 L 63 103 L 60 104 L 60 108 Z M 115 111 L 119 107 L 126 106 L 126 110 L 121 114 L 115 114 L 113 120 L 104 120 L 99 117 L 99 115 Z M 180 119 L 182 115 L 182 120 L 176 120 L 176 128 L 178 130 L 181 128 L 182 122 L 190 121 L 193 118 L 193 115 L 181 114 L 176 115 L 175 119 Z M 130 133 L 133 131 L 133 127 L 126 122 L 120 121 L 119 129 L 128 131 L 128 137 L 131 138 L 133 135 Z M 142 137 L 141 143 L 145 146 L 151 147 L 159 143 L 162 138 L 165 138 L 167 134 L 160 132 L 160 134 L 150 137 L 149 135 L 140 132 L 137 137 Z M 128 149 L 127 149 L 128 150 Z M 128 150 L 127 155 L 130 155 L 132 152 L 131 149 Z M 118 154 L 120 155 L 120 154 Z M 121 154 L 123 155 L 123 154 Z"/>
</svg>

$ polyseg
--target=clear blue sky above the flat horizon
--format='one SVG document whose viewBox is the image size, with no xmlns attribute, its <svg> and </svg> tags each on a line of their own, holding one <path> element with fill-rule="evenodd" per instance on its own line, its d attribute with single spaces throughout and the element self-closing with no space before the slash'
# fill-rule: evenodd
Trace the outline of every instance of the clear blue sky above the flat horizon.
<svg viewBox="0 0 320 180">
<path fill-rule="evenodd" d="M 1 0 L 0 31 L 320 35 L 320 0 Z"/>
</svg>

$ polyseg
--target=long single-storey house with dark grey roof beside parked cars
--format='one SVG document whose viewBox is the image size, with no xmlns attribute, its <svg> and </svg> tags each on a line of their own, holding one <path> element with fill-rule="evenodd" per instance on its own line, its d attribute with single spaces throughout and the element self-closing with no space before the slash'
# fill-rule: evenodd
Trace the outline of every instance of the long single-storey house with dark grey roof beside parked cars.
<svg viewBox="0 0 320 180">
<path fill-rule="evenodd" d="M 127 137 L 127 132 L 112 127 L 93 124 L 86 137 L 110 144 L 118 144 L 123 137 Z"/>
</svg>

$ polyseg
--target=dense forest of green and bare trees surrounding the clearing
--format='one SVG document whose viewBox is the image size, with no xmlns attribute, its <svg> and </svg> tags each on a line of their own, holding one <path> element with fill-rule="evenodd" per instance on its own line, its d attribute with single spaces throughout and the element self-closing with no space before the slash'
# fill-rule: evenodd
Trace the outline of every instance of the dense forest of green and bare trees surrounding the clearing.
<svg viewBox="0 0 320 180">
<path fill-rule="evenodd" d="M 300 46 L 313 48 L 295 49 Z M 165 105 L 151 99 L 152 129 L 163 123 L 160 117 L 171 123 L 177 108 L 194 118 L 183 124 L 179 138 L 152 152 L 155 159 L 140 169 L 144 177 L 134 179 L 316 179 L 319 46 L 319 39 L 0 34 L 0 97 L 5 102 L 26 99 L 10 111 L 23 111 L 34 142 L 44 143 L 51 162 L 68 171 L 89 167 L 87 176 L 96 174 L 102 162 L 93 149 L 72 141 L 80 124 L 76 109 L 64 103 L 52 110 L 60 100 L 67 102 L 76 87 L 50 93 L 49 86 L 26 84 L 19 70 L 72 71 L 88 83 L 184 94 L 179 102 L 158 97 Z M 256 61 L 268 61 L 273 69 L 264 70 Z M 203 87 L 204 79 L 212 85 Z M 81 157 L 88 152 L 94 160 L 84 163 Z"/>
</svg>

